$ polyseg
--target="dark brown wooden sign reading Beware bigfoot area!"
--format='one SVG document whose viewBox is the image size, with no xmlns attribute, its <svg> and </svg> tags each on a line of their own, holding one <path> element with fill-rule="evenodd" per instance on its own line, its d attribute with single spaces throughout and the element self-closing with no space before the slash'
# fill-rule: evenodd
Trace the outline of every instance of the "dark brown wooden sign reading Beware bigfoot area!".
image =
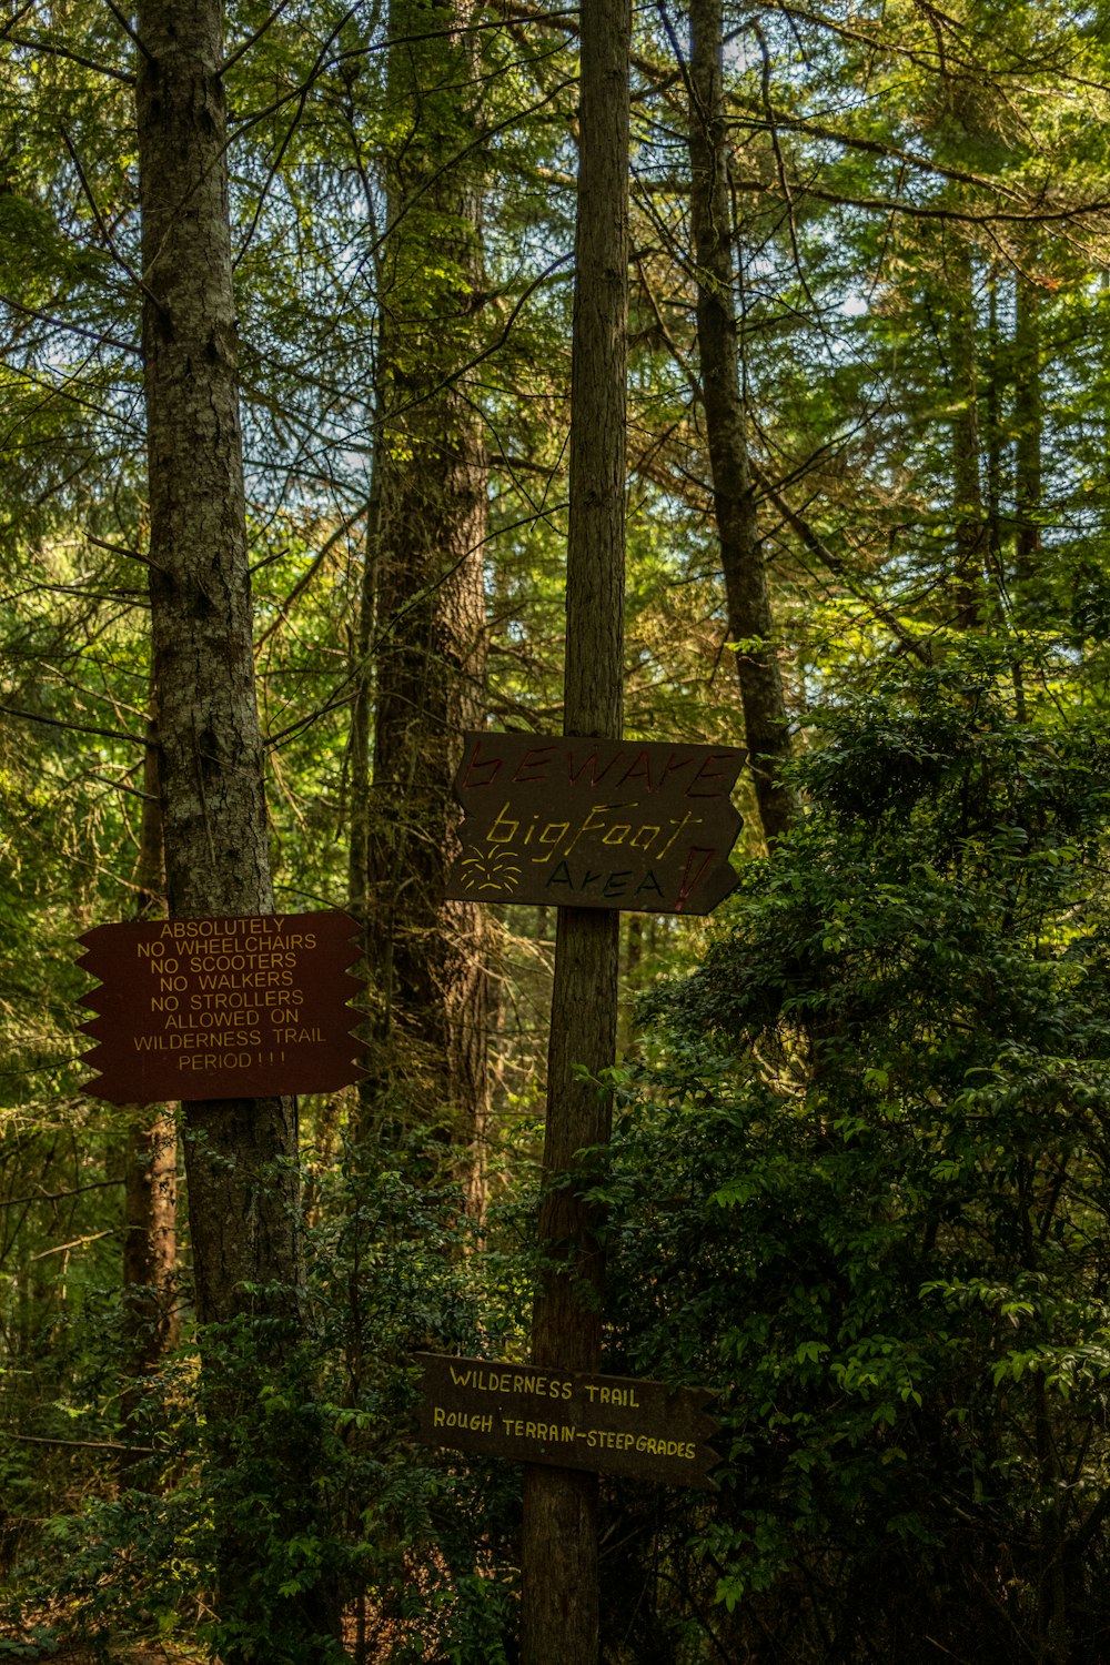
<svg viewBox="0 0 1110 1665">
<path fill-rule="evenodd" d="M 468 734 L 448 896 L 707 914 L 737 884 L 739 746 Z"/>
</svg>

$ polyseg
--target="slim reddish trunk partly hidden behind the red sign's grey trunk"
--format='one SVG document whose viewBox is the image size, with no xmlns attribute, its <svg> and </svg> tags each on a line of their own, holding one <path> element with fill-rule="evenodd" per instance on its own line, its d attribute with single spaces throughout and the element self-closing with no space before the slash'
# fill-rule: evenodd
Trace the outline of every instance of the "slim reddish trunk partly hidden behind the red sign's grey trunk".
<svg viewBox="0 0 1110 1665">
<path fill-rule="evenodd" d="M 158 723 L 146 724 L 143 809 L 138 834 L 138 919 L 165 911 Z M 135 1434 L 143 1375 L 155 1370 L 178 1337 L 176 1317 L 178 1129 L 166 1106 L 135 1104 L 128 1114 L 123 1170 L 123 1425 Z M 130 1455 L 121 1467 L 130 1469 Z"/>
</svg>

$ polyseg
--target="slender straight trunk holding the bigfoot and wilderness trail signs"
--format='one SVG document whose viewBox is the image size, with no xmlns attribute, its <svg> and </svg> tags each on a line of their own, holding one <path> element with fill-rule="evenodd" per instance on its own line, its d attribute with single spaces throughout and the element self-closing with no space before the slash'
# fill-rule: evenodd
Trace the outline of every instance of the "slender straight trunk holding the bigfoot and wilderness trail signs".
<svg viewBox="0 0 1110 1665">
<path fill-rule="evenodd" d="M 627 0 L 592 0 L 581 37 L 564 733 L 599 739 L 622 724 L 629 55 Z M 557 916 L 538 1365 L 589 1370 L 601 1354 L 597 1219 L 566 1177 L 581 1149 L 609 1139 L 609 1099 L 579 1069 L 596 1077 L 614 1059 L 619 922 L 601 909 Z M 596 1475 L 524 1469 L 521 1565 L 524 1665 L 596 1665 Z"/>
</svg>

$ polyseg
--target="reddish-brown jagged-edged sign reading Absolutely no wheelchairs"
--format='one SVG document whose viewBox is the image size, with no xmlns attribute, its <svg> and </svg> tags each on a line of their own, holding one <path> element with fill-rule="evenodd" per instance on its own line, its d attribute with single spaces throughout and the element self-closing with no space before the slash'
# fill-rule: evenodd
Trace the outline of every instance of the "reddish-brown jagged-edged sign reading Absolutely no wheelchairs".
<svg viewBox="0 0 1110 1665">
<path fill-rule="evenodd" d="M 333 1092 L 353 1062 L 358 924 L 344 912 L 97 926 L 83 1092 L 111 1104 Z"/>
</svg>

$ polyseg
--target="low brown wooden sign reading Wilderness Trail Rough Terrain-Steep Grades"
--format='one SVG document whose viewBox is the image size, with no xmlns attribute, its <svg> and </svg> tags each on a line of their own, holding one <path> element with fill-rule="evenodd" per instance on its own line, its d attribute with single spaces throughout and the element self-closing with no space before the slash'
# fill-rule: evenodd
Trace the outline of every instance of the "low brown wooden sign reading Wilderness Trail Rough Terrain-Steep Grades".
<svg viewBox="0 0 1110 1665">
<path fill-rule="evenodd" d="M 704 1412 L 714 1397 L 706 1387 L 416 1357 L 424 1370 L 418 1425 L 428 1445 L 716 1490 L 709 1470 L 721 1459 L 706 1442 L 717 1424 Z"/>
</svg>

